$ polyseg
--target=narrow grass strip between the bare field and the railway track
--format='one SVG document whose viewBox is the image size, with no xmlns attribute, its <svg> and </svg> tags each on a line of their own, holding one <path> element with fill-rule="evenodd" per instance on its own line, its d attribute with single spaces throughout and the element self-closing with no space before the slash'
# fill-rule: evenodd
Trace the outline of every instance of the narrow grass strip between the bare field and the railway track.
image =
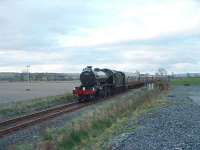
<svg viewBox="0 0 200 150">
<path fill-rule="evenodd" d="M 55 105 L 72 102 L 74 99 L 75 98 L 72 94 L 64 94 L 59 96 L 48 96 L 45 98 L 37 98 L 27 101 L 6 103 L 0 105 L 0 117 L 1 118 L 17 117 L 28 113 L 32 113 L 34 111 L 46 109 Z"/>
</svg>

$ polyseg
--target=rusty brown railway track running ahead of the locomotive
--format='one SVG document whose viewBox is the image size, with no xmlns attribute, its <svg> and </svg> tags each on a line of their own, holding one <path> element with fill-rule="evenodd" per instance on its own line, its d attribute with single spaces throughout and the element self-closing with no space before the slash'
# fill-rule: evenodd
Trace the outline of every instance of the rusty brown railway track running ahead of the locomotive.
<svg viewBox="0 0 200 150">
<path fill-rule="evenodd" d="M 57 106 L 57 107 L 49 108 L 49 109 L 42 110 L 36 113 L 32 113 L 30 115 L 24 115 L 22 117 L 17 117 L 14 119 L 0 122 L 0 137 L 12 134 L 18 130 L 22 130 L 26 127 L 35 125 L 42 121 L 55 118 L 64 113 L 76 111 L 87 105 L 91 105 L 91 103 L 73 102 L 70 104 L 64 104 L 61 106 Z"/>
</svg>

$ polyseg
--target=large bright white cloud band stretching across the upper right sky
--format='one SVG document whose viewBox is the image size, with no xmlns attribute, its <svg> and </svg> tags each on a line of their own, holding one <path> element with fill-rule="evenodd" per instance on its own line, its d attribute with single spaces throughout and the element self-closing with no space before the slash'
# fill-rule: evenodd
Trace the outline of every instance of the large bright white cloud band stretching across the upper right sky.
<svg viewBox="0 0 200 150">
<path fill-rule="evenodd" d="M 81 47 L 187 33 L 198 29 L 200 25 L 200 11 L 194 8 L 194 1 L 122 5 L 120 9 L 114 10 L 113 14 L 117 16 L 115 19 L 110 7 L 107 10 L 111 11 L 111 16 L 107 16 L 110 18 L 108 25 L 99 28 L 81 28 L 78 30 L 83 35 L 62 34 L 58 35 L 57 40 L 58 44 L 65 47 Z"/>
</svg>

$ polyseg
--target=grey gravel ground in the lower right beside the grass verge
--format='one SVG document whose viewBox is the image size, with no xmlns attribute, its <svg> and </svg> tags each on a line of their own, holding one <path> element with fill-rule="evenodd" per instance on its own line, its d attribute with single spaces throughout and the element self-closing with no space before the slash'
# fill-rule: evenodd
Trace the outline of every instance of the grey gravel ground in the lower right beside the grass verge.
<svg viewBox="0 0 200 150">
<path fill-rule="evenodd" d="M 176 87 L 170 95 L 172 105 L 140 118 L 141 126 L 113 142 L 119 150 L 199 150 L 200 86 Z"/>
</svg>

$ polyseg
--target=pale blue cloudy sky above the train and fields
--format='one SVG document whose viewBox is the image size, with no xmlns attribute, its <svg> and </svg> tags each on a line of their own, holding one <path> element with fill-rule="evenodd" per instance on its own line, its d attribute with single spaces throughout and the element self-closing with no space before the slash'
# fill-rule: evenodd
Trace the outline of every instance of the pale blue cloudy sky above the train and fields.
<svg viewBox="0 0 200 150">
<path fill-rule="evenodd" d="M 200 72 L 199 0 L 0 0 L 0 72 Z"/>
</svg>

